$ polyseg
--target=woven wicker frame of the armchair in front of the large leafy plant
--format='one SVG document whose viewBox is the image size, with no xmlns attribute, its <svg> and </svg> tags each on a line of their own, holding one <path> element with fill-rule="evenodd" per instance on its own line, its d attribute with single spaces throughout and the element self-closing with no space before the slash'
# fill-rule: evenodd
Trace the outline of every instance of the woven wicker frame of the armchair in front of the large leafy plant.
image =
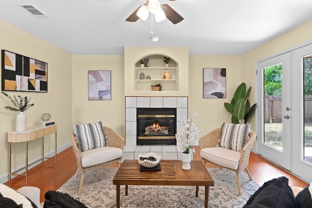
<svg viewBox="0 0 312 208">
<path fill-rule="evenodd" d="M 199 141 L 198 141 L 200 150 L 202 150 L 204 148 L 207 148 L 207 147 L 216 147 L 216 146 L 218 146 L 220 144 L 220 138 L 221 138 L 221 127 L 220 128 L 216 128 L 216 129 L 212 130 L 211 132 L 203 135 L 202 137 L 199 138 Z M 243 149 L 242 149 L 242 151 L 240 153 L 240 158 L 239 158 L 239 161 L 238 161 L 238 168 L 237 169 L 230 168 L 228 166 L 222 166 L 222 165 L 218 164 L 217 162 L 212 162 L 212 161 L 209 161 L 209 160 L 207 160 L 207 159 L 202 157 L 202 160 L 204 161 L 205 166 L 206 166 L 206 163 L 209 162 L 209 163 L 215 164 L 217 166 L 220 166 L 221 169 L 222 169 L 222 167 L 224 167 L 224 168 L 227 168 L 229 170 L 233 170 L 234 172 L 236 172 L 238 194 L 239 195 L 241 195 L 239 173 L 245 169 L 245 171 L 247 172 L 250 180 L 253 180 L 253 178 L 250 175 L 250 172 L 249 172 L 247 166 L 248 166 L 248 163 L 249 163 L 250 151 L 251 151 L 251 148 L 252 148 L 252 146 L 254 144 L 254 139 L 255 139 L 255 133 L 254 133 L 254 131 L 251 131 L 249 133 L 249 140 L 246 143 L 246 145 L 243 147 Z M 222 148 L 222 147 L 220 147 L 220 148 Z M 232 150 L 232 151 L 234 151 L 234 150 Z M 201 151 L 200 155 L 202 156 L 202 151 Z"/>
</svg>

